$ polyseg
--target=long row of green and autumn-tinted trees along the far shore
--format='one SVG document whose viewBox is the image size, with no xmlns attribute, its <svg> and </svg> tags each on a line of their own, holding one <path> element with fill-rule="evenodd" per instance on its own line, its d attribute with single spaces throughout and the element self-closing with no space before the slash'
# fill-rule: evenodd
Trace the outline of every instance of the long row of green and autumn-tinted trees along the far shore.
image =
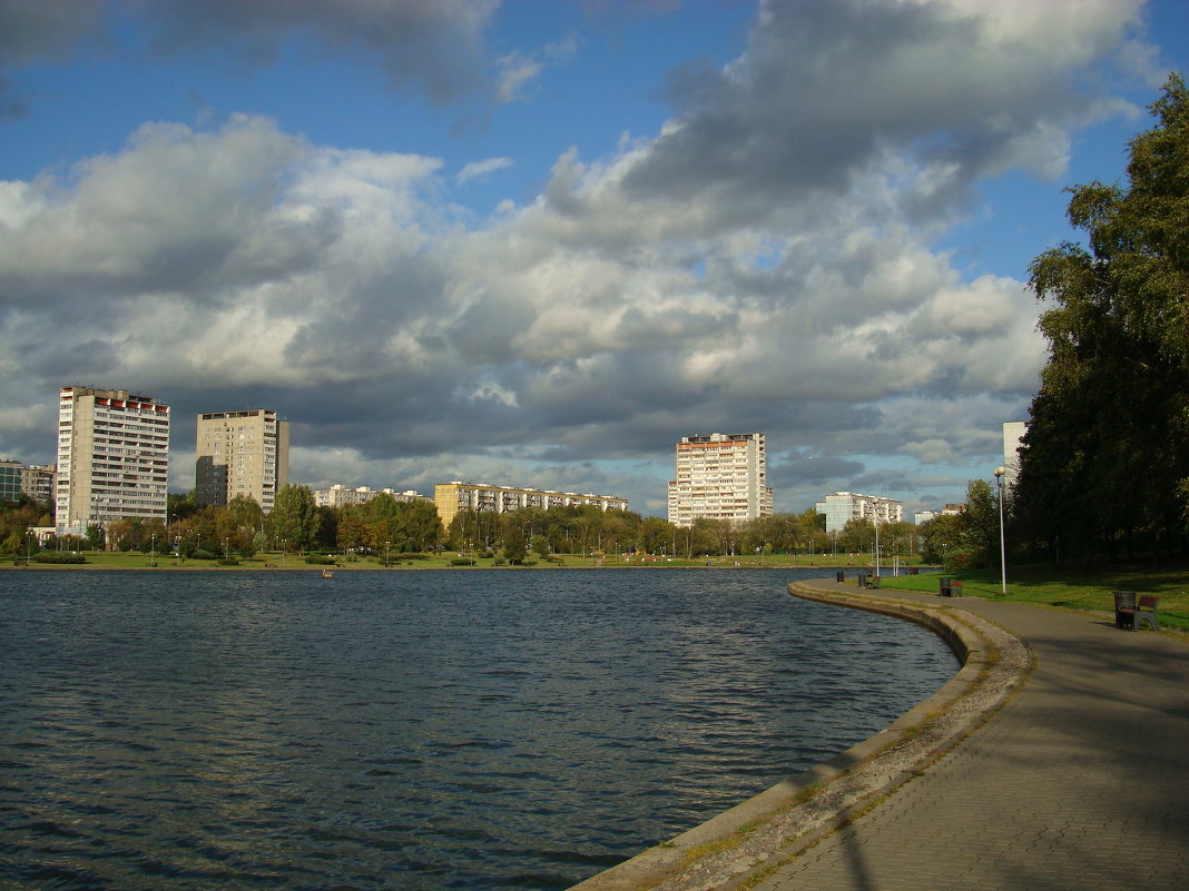
<svg viewBox="0 0 1189 891">
<path fill-rule="evenodd" d="M 630 511 L 602 511 L 593 505 L 527 507 L 508 513 L 465 510 L 446 527 L 427 500 L 398 501 L 380 493 L 363 505 L 319 507 L 313 492 L 297 485 L 282 488 L 269 513 L 244 497 L 222 506 L 199 506 L 193 491 L 170 494 L 168 513 L 166 520 L 93 524 L 86 538 L 51 539 L 48 548 L 176 552 L 188 558 L 251 557 L 262 551 L 395 556 L 449 550 L 459 555 L 497 555 L 515 563 L 529 554 L 860 557 L 872 555 L 879 538 L 881 556 L 891 561 L 917 554 L 923 542 L 911 523 L 883 524 L 876 536 L 870 520 L 853 520 L 843 530 L 828 533 L 825 516 L 813 510 L 746 523 L 699 518 L 691 526 Z M 48 505 L 27 503 L 0 508 L 0 550 L 24 550 L 29 543 L 26 529 L 33 525 L 52 525 Z"/>
</svg>

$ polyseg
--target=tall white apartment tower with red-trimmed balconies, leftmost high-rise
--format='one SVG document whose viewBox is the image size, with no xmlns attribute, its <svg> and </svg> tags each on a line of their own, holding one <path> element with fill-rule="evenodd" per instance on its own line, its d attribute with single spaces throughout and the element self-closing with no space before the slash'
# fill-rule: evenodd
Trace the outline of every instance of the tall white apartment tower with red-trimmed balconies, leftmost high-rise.
<svg viewBox="0 0 1189 891">
<path fill-rule="evenodd" d="M 89 523 L 165 519 L 169 406 L 127 390 L 62 387 L 58 397 L 59 531 Z"/>
</svg>

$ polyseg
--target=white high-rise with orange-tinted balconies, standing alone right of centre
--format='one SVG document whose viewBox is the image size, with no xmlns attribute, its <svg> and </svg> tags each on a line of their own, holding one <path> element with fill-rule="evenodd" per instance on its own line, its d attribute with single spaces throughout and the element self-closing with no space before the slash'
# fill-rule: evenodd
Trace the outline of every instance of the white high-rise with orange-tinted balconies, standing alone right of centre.
<svg viewBox="0 0 1189 891">
<path fill-rule="evenodd" d="M 677 479 L 668 485 L 668 519 L 690 526 L 698 517 L 749 520 L 773 511 L 763 434 L 682 436 Z"/>
</svg>

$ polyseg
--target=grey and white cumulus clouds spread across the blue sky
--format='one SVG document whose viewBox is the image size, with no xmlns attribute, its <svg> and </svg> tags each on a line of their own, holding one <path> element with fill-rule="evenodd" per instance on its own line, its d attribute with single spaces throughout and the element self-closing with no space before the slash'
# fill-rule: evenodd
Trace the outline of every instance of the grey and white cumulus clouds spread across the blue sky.
<svg viewBox="0 0 1189 891">
<path fill-rule="evenodd" d="M 1074 75 L 1134 56 L 1128 4 L 1006 6 L 762 4 L 735 62 L 673 75 L 659 133 L 571 151 L 534 201 L 478 223 L 449 187 L 508 158 L 449 178 L 253 115 L 145 125 L 0 185 L 0 367 L 21 371 L 0 394 L 36 409 L 63 384 L 138 387 L 181 410 L 182 443 L 193 412 L 269 405 L 295 424 L 303 481 L 482 476 L 641 510 L 662 510 L 693 432 L 767 432 L 781 510 L 993 455 L 1036 388 L 1037 308 L 1018 280 L 965 280 L 931 239 L 983 177 L 1061 175 L 1070 133 L 1112 102 Z M 409 21 L 453 27 L 466 59 L 492 10 L 251 7 L 233 23 L 240 4 L 166 4 L 163 45 L 226 26 L 264 58 L 278 30 L 316 26 L 400 80 Z M 419 76 L 447 96 L 463 74 L 438 62 Z M 31 437 L 0 426 L 5 451 L 52 446 Z"/>
</svg>

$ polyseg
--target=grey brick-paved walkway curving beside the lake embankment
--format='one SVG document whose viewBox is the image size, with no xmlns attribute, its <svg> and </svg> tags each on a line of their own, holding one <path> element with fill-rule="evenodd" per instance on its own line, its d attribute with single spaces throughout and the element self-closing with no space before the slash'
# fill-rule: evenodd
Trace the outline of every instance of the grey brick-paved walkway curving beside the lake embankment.
<svg viewBox="0 0 1189 891">
<path fill-rule="evenodd" d="M 1044 607 L 954 605 L 1028 643 L 1028 682 L 919 777 L 751 887 L 1189 889 L 1185 640 Z"/>
</svg>

